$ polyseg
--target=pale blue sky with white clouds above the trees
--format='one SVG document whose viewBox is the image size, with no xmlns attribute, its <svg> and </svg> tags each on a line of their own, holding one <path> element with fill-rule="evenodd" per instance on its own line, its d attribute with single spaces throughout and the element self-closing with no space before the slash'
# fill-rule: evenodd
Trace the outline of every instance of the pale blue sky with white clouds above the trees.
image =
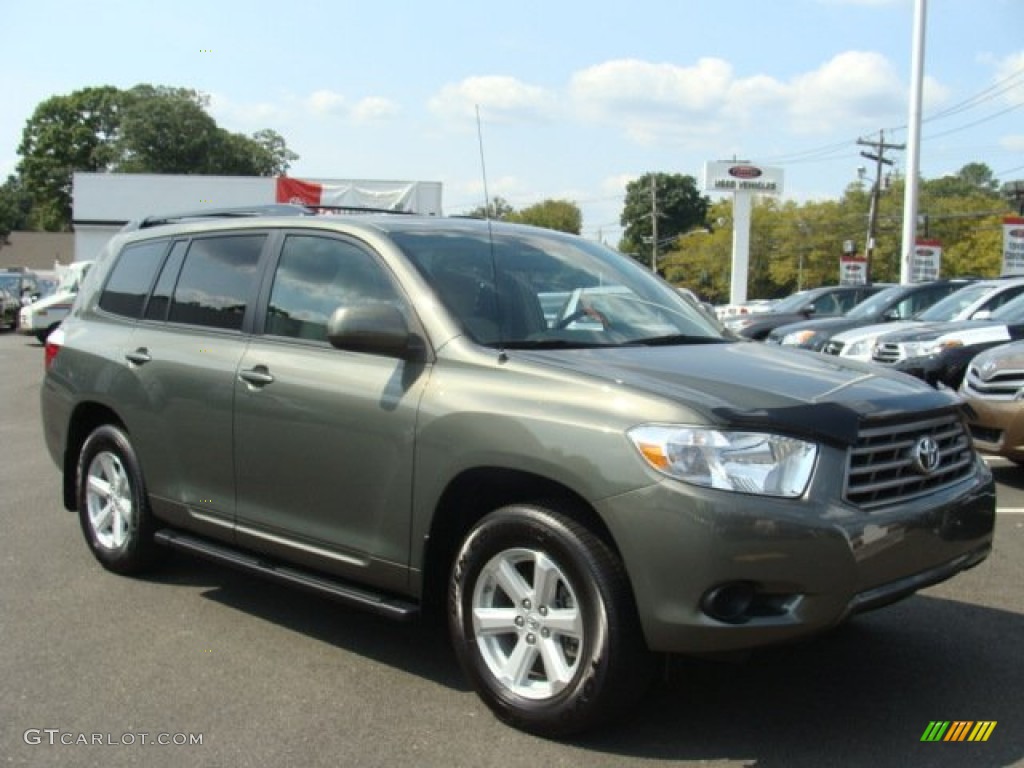
<svg viewBox="0 0 1024 768">
<path fill-rule="evenodd" d="M 921 174 L 1024 178 L 1024 0 L 926 0 Z M 614 245 L 626 184 L 709 161 L 838 199 L 905 143 L 914 0 L 0 0 L 0 179 L 52 95 L 193 88 L 227 130 L 281 133 L 299 178 L 440 181 L 583 211 Z M 907 153 L 892 151 L 903 169 Z M 712 195 L 716 199 L 716 195 Z"/>
</svg>

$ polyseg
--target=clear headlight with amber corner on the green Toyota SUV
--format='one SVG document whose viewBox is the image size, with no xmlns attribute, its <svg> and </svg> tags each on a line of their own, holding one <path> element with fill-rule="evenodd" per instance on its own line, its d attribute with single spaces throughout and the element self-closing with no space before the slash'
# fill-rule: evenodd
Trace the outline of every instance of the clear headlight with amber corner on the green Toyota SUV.
<svg viewBox="0 0 1024 768">
<path fill-rule="evenodd" d="M 813 442 L 764 432 L 645 425 L 628 434 L 657 471 L 694 485 L 742 494 L 801 496 L 818 456 Z"/>
</svg>

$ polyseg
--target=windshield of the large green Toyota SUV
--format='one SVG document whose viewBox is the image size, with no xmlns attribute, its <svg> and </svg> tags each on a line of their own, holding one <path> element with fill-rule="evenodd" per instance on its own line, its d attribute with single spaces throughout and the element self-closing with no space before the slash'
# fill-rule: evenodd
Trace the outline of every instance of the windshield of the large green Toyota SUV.
<svg viewBox="0 0 1024 768">
<path fill-rule="evenodd" d="M 480 344 L 724 341 L 714 322 L 633 259 L 558 232 L 496 226 L 391 237 Z"/>
</svg>

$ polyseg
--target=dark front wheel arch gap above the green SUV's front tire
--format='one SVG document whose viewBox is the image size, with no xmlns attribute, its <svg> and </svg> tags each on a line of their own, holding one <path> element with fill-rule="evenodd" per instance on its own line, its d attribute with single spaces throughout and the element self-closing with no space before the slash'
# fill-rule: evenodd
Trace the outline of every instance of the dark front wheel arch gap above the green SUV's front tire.
<svg viewBox="0 0 1024 768">
<path fill-rule="evenodd" d="M 452 562 L 470 528 L 488 512 L 510 504 L 555 508 L 586 526 L 622 557 L 600 515 L 567 485 L 520 470 L 469 469 L 453 478 L 434 510 L 423 558 L 421 592 L 426 610 L 443 609 Z"/>
</svg>

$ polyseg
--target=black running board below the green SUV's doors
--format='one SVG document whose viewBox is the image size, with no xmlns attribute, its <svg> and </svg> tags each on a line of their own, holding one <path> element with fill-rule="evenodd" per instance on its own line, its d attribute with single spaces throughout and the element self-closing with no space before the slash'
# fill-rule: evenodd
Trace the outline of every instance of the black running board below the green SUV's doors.
<svg viewBox="0 0 1024 768">
<path fill-rule="evenodd" d="M 199 555 L 208 560 L 229 565 L 232 568 L 281 584 L 299 587 L 386 618 L 408 622 L 415 618 L 420 612 L 419 605 L 410 600 L 372 592 L 360 587 L 353 587 L 332 577 L 265 560 L 249 552 L 231 549 L 226 545 L 216 544 L 189 534 L 182 534 L 173 528 L 162 528 L 154 534 L 153 538 L 158 544 L 165 547 Z"/>
</svg>

